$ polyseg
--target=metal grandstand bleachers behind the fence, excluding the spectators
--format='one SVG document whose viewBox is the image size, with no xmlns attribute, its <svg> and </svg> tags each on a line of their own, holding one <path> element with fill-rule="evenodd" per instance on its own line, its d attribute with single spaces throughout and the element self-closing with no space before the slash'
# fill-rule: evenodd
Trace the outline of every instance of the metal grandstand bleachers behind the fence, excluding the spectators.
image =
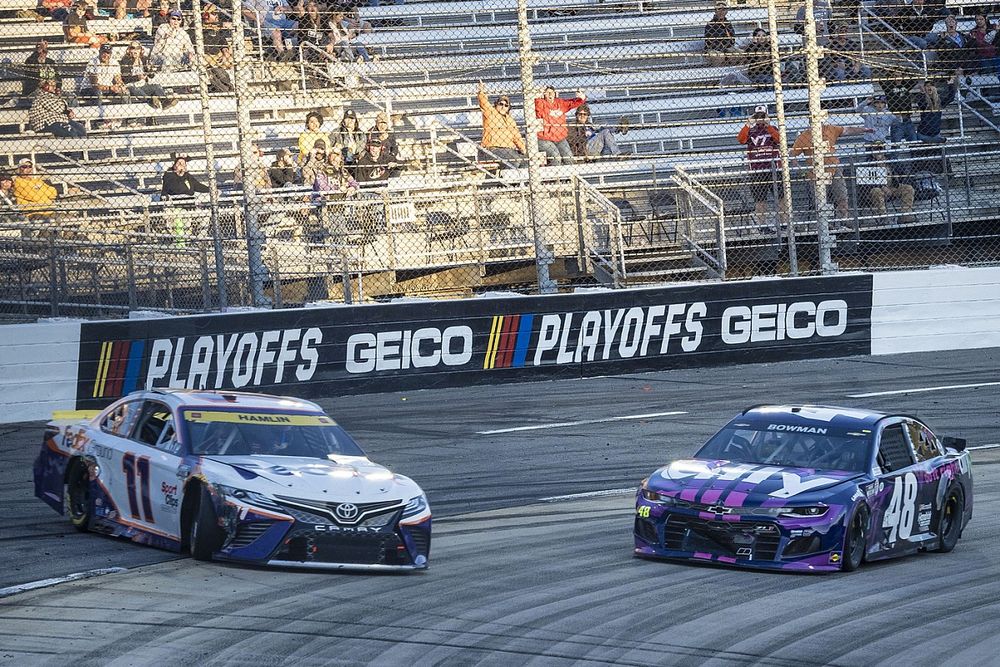
<svg viewBox="0 0 1000 667">
<path fill-rule="evenodd" d="M 373 56 L 370 62 L 326 62 L 304 44 L 293 52 L 296 59 L 279 62 L 269 36 L 248 26 L 241 65 L 251 82 L 238 92 L 249 127 L 239 123 L 236 94 L 202 98 L 204 73 L 194 69 L 155 75 L 180 100 L 169 109 L 136 99 L 89 101 L 83 78 L 94 50 L 62 43 L 61 24 L 26 14 L 32 4 L 0 0 L 0 16 L 6 16 L 0 19 L 0 99 L 6 100 L 0 169 L 16 171 L 29 158 L 59 195 L 53 216 L 0 208 L 0 311 L 208 310 L 222 298 L 219 282 L 230 304 L 250 303 L 247 253 L 255 243 L 273 305 L 342 300 L 345 292 L 381 299 L 536 289 L 539 249 L 553 279 L 567 289 L 820 270 L 822 239 L 806 165 L 792 165 L 797 266 L 776 218 L 755 216 L 746 148 L 735 137 L 754 107 L 768 105 L 774 115 L 776 95 L 769 84 L 734 82 L 730 75 L 741 64 L 706 63 L 708 0 L 528 2 L 536 84 L 563 96 L 583 91 L 598 126 L 624 130 L 615 134 L 620 155 L 542 167 L 540 186 L 531 186 L 527 169 L 482 161 L 476 151 L 479 81 L 491 98 L 510 97 L 513 117 L 522 133 L 525 128 L 512 0 L 361 7 L 371 31 L 356 41 Z M 972 13 L 962 3 L 954 8 Z M 181 9 L 190 17 L 189 5 Z M 783 5 L 779 16 L 785 64 L 801 54 L 795 9 Z M 827 122 L 862 127 L 855 108 L 882 93 L 890 79 L 942 74 L 933 59 L 900 41 L 887 18 L 867 5 L 847 11 L 835 9 L 835 19 L 849 26 L 858 57 L 873 74 L 828 81 L 818 91 L 789 78 L 783 91 L 789 144 L 808 127 L 811 93 L 829 113 Z M 756 4 L 734 4 L 728 18 L 737 48 L 752 30 L 767 27 L 766 9 Z M 961 17 L 961 26 L 969 20 Z M 111 39 L 116 62 L 129 39 L 148 50 L 155 32 L 151 18 L 97 18 L 90 30 Z M 51 43 L 84 137 L 30 128 L 30 100 L 20 97 L 22 64 L 40 39 Z M 842 269 L 997 261 L 991 246 L 1000 127 L 989 101 L 997 80 L 969 74 L 959 82 L 957 101 L 943 109 L 946 143 L 911 142 L 889 151 L 890 163 L 912 172 L 914 183 L 917 175 L 933 182 L 921 190 L 912 215 L 898 210 L 899 202 L 886 215 L 867 206 L 862 195 L 870 185 L 855 174 L 868 165 L 869 151 L 860 138 L 838 145 L 850 185 L 850 215 L 835 230 Z M 281 149 L 295 149 L 308 112 L 320 111 L 322 129 L 335 132 L 346 109 L 357 112 L 364 129 L 379 112 L 395 117 L 401 173 L 362 184 L 347 200 L 319 200 L 308 184 L 264 189 L 251 210 L 234 179 L 241 137 L 252 138 L 270 164 Z M 190 156 L 189 170 L 201 179 L 214 174 L 219 196 L 162 200 L 163 173 L 175 155 Z M 774 178 L 777 185 L 780 173 Z"/>
</svg>

